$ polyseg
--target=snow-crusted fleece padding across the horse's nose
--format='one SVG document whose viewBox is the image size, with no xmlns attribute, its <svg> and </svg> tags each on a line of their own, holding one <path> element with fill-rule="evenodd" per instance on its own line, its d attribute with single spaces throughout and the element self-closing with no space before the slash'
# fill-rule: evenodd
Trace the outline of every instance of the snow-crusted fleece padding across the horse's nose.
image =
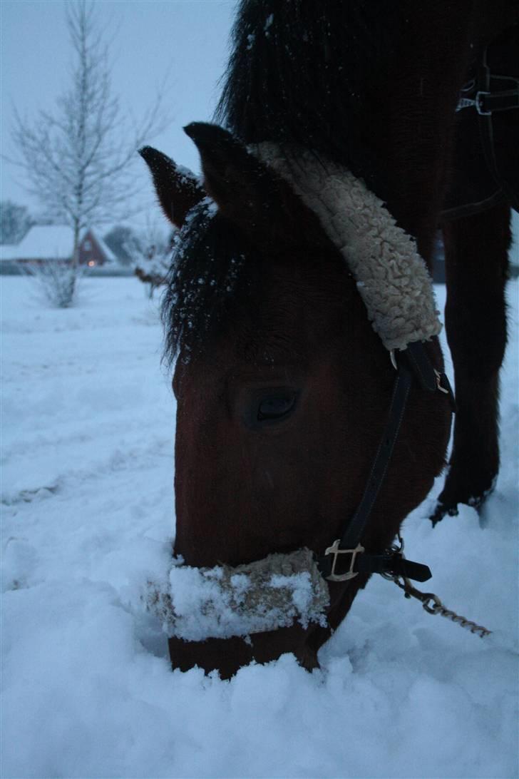
<svg viewBox="0 0 519 779">
<path fill-rule="evenodd" d="M 168 636 L 186 641 L 248 636 L 296 620 L 326 625 L 328 585 L 309 549 L 248 565 L 191 568 L 174 561 L 167 580 L 149 581 L 143 600 Z"/>
</svg>

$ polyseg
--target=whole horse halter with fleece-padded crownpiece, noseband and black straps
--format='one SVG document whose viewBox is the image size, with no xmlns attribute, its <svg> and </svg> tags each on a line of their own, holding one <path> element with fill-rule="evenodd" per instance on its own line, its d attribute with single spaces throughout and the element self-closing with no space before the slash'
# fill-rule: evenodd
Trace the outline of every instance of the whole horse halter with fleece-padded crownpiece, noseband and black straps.
<svg viewBox="0 0 519 779">
<path fill-rule="evenodd" d="M 144 599 L 169 635 L 200 641 L 247 636 L 291 625 L 325 623 L 328 587 L 359 573 L 426 581 L 430 570 L 394 548 L 369 554 L 361 545 L 391 460 L 413 379 L 427 392 L 447 393 L 447 377 L 433 367 L 423 342 L 440 332 L 433 284 L 415 241 L 384 203 L 349 171 L 307 150 L 272 143 L 251 149 L 286 179 L 321 221 L 356 279 L 373 329 L 391 351 L 396 369 L 384 435 L 363 498 L 342 538 L 324 554 L 300 549 L 249 565 L 195 569 L 174 561 L 162 582 L 149 582 Z M 396 353 L 395 353 L 396 350 Z"/>
</svg>

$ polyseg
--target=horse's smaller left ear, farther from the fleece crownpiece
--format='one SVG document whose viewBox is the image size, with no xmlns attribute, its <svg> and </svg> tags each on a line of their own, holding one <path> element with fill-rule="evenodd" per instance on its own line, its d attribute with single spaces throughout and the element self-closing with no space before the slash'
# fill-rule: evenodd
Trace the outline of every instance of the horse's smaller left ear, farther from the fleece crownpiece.
<svg viewBox="0 0 519 779">
<path fill-rule="evenodd" d="M 205 192 L 187 168 L 180 168 L 170 157 L 151 146 L 139 149 L 151 171 L 160 205 L 167 218 L 182 227 L 186 214 L 205 198 Z"/>
</svg>

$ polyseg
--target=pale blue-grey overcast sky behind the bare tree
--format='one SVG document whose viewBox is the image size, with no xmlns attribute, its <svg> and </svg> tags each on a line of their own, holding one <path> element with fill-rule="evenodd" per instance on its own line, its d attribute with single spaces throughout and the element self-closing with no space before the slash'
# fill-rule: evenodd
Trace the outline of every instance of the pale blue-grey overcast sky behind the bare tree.
<svg viewBox="0 0 519 779">
<path fill-rule="evenodd" d="M 13 153 L 12 105 L 30 118 L 38 108 L 52 110 L 68 86 L 72 51 L 66 5 L 66 0 L 0 0 L 2 157 Z M 167 76 L 164 99 L 172 122 L 149 142 L 198 172 L 198 153 L 181 128 L 212 116 L 218 79 L 229 54 L 235 0 L 93 0 L 93 5 L 112 41 L 114 94 L 138 116 Z M 142 213 L 132 219 L 136 226 L 145 224 L 147 214 L 156 213 L 144 168 L 144 163 L 137 168 L 142 176 Z M 19 170 L 2 159 L 0 199 L 37 213 L 37 201 L 22 185 Z"/>
</svg>

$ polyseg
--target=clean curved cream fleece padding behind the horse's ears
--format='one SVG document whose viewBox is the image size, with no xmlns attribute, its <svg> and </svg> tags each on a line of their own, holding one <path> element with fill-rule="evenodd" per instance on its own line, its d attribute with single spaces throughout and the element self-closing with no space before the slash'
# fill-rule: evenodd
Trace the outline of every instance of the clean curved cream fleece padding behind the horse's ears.
<svg viewBox="0 0 519 779">
<path fill-rule="evenodd" d="M 310 150 L 258 143 L 250 151 L 319 217 L 386 349 L 405 349 L 440 333 L 432 280 L 414 239 L 359 178 Z"/>
</svg>

